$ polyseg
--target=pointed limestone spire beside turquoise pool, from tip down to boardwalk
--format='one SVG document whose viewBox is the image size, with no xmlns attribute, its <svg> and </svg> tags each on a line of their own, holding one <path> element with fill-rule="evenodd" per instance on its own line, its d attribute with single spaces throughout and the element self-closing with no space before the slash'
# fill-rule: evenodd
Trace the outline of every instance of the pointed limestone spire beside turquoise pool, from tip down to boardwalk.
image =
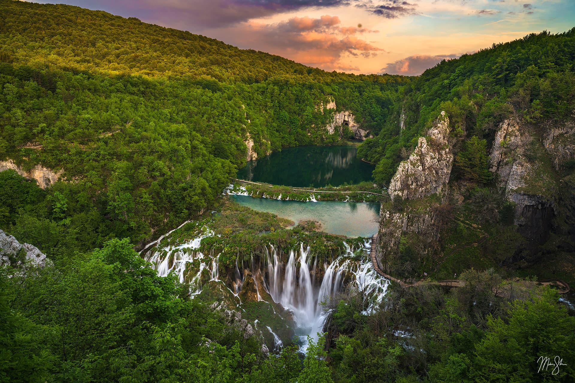
<svg viewBox="0 0 575 383">
<path fill-rule="evenodd" d="M 447 193 L 453 166 L 449 119 L 444 112 L 420 137 L 408 160 L 402 161 L 389 185 L 392 202 L 381 204 L 379 266 L 409 275 L 415 264 L 439 247 L 436 207 Z M 415 254 L 411 260 L 401 253 Z"/>
</svg>

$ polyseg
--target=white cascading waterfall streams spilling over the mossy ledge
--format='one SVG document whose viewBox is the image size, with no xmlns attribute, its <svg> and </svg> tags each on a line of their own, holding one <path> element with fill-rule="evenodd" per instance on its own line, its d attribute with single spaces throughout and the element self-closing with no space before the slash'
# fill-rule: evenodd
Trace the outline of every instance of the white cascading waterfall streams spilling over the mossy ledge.
<svg viewBox="0 0 575 383">
<path fill-rule="evenodd" d="M 304 343 L 302 350 L 306 347 L 306 335 L 317 340 L 317 332 L 324 326 L 324 311 L 320 304 L 322 301 L 342 291 L 344 286 L 353 285 L 366 296 L 373 297 L 366 310 L 366 314 L 369 314 L 388 288 L 389 281 L 379 276 L 371 265 L 370 240 L 363 243 L 362 249 L 356 249 L 362 250 L 360 253 L 354 253 L 354 249 L 344 242 L 345 251 L 335 260 L 323 260 L 310 255 L 310 247 L 300 243 L 298 250 L 289 250 L 285 265 L 281 261 L 281 249 L 270 244 L 264 247 L 264 254 L 259 261 L 251 257 L 247 268 L 243 261 L 236 261 L 235 265 L 228 269 L 231 274 L 221 280 L 218 269 L 219 254 L 206 255 L 198 250 L 201 239 L 210 235 L 213 233 L 206 229 L 200 237 L 181 245 L 163 249 L 156 247 L 147 253 L 147 259 L 155 264 L 160 276 L 174 272 L 182 283 L 187 281 L 194 285 L 194 295 L 201 292 L 204 269 L 209 271 L 210 283 L 216 281 L 238 299 L 246 276 L 251 274 L 258 301 L 264 300 L 262 293 L 265 292 L 265 296 L 271 296 L 275 303 L 292 312 L 296 324 L 294 331 L 301 336 Z M 321 272 L 324 274 L 320 278 Z M 226 285 L 225 281 L 231 285 Z M 281 339 L 271 328 L 268 329 L 274 336 L 274 348 L 281 347 Z"/>
</svg>

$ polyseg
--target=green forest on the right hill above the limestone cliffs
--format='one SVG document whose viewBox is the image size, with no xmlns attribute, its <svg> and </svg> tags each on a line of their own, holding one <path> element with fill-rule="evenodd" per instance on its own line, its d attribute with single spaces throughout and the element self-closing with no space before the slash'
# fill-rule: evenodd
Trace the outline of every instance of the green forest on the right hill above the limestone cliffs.
<svg viewBox="0 0 575 383">
<path fill-rule="evenodd" d="M 573 114 L 574 62 L 575 28 L 531 33 L 443 60 L 401 87 L 384 127 L 358 155 L 377 163 L 374 179 L 386 184 L 441 111 L 459 138 L 493 140 L 496 127 L 512 114 L 532 124 L 564 121 Z"/>
</svg>

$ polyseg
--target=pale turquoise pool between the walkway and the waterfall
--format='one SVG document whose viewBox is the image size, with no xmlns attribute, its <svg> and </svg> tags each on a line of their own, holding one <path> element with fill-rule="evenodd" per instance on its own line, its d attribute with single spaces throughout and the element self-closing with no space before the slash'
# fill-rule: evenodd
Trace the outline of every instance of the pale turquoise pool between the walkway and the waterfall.
<svg viewBox="0 0 575 383">
<path fill-rule="evenodd" d="M 266 211 L 294 222 L 317 220 L 323 231 L 347 237 L 371 237 L 379 225 L 379 204 L 339 201 L 283 201 L 252 198 L 245 195 L 230 196 L 237 203 L 257 211 Z"/>
</svg>

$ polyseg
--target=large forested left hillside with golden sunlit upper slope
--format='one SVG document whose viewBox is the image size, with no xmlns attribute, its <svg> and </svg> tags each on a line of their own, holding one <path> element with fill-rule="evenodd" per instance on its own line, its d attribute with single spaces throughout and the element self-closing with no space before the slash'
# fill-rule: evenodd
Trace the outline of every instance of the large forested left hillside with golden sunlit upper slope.
<svg viewBox="0 0 575 383">
<path fill-rule="evenodd" d="M 213 206 L 245 164 L 248 133 L 260 156 L 335 143 L 322 127 L 328 97 L 377 133 L 409 81 L 328 73 L 67 5 L 1 0 L 0 18 L 0 160 L 63 169 L 69 181 L 33 212 L 5 201 L 0 227 L 63 238 L 81 226 L 85 250 Z M 67 204 L 57 217 L 56 191 Z"/>
</svg>

